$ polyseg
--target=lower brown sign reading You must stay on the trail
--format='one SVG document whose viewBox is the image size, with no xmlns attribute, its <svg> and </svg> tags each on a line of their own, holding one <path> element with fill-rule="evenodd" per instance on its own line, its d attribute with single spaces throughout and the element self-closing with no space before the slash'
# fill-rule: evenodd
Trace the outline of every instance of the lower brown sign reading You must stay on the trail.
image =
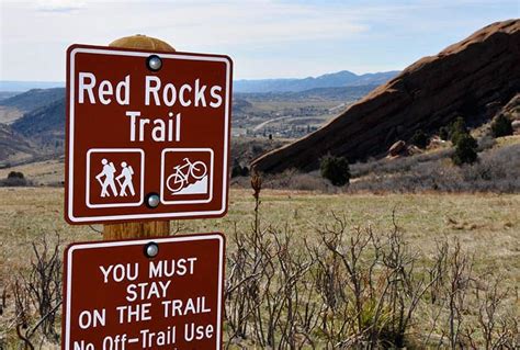
<svg viewBox="0 0 520 350">
<path fill-rule="evenodd" d="M 63 349 L 221 349 L 221 234 L 72 244 Z"/>
</svg>

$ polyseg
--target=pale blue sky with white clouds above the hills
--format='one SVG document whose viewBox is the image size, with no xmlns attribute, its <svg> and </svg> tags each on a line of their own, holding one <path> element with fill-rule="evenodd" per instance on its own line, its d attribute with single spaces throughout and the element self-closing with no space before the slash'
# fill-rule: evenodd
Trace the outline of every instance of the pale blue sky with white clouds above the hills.
<svg viewBox="0 0 520 350">
<path fill-rule="evenodd" d="M 515 1 L 0 0 L 0 80 L 65 80 L 74 43 L 145 34 L 178 50 L 229 55 L 235 78 L 404 69 L 496 21 Z"/>
</svg>

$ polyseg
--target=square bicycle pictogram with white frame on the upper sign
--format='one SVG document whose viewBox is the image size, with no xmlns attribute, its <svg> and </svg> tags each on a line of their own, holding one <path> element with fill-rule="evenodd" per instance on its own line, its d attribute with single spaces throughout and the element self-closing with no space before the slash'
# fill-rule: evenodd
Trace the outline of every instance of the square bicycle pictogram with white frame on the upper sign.
<svg viewBox="0 0 520 350">
<path fill-rule="evenodd" d="M 161 202 L 205 203 L 213 187 L 213 150 L 167 148 L 162 151 Z"/>
</svg>

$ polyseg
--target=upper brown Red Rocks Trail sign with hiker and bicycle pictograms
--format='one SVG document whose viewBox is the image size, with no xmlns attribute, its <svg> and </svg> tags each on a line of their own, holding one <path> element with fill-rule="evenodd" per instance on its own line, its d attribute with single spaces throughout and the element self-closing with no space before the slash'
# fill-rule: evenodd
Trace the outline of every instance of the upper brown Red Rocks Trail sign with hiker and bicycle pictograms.
<svg viewBox="0 0 520 350">
<path fill-rule="evenodd" d="M 70 224 L 225 215 L 229 57 L 72 45 L 67 95 Z"/>
</svg>

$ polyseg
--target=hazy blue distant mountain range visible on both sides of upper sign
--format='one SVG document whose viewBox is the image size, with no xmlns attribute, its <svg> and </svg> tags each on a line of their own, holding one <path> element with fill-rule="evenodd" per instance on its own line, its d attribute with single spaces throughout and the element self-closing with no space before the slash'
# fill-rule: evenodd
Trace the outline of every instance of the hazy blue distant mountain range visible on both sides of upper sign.
<svg viewBox="0 0 520 350">
<path fill-rule="evenodd" d="M 235 80 L 234 92 L 299 92 L 317 88 L 344 88 L 360 86 L 378 86 L 397 76 L 399 71 L 384 71 L 358 76 L 348 70 L 308 77 L 304 79 L 259 79 Z M 65 82 L 59 81 L 7 81 L 0 80 L 2 91 L 29 91 L 31 89 L 61 88 Z"/>
</svg>

